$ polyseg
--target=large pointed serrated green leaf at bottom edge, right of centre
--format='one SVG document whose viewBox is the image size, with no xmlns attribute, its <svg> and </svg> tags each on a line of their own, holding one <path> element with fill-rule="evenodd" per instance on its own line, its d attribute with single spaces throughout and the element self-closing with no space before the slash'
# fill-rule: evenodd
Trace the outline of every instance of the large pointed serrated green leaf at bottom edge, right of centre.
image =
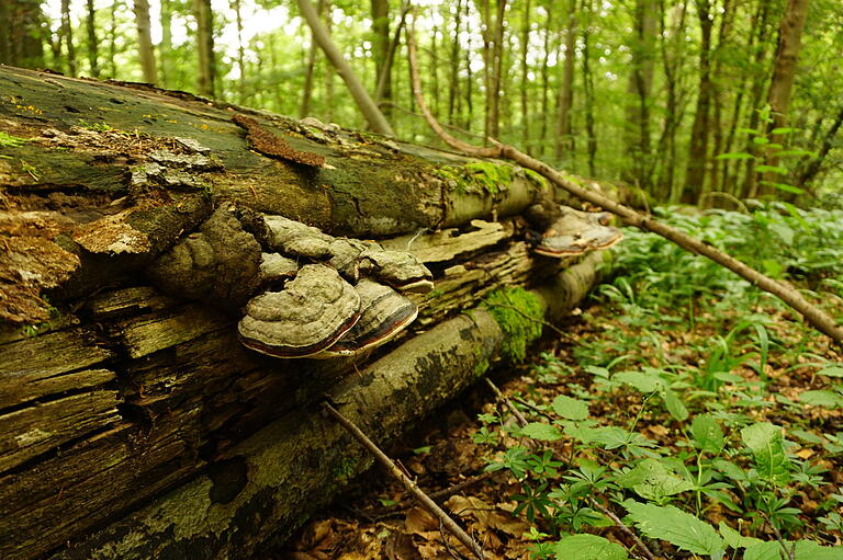
<svg viewBox="0 0 843 560">
<path fill-rule="evenodd" d="M 708 523 L 673 505 L 650 505 L 627 500 L 623 507 L 638 529 L 650 538 L 666 540 L 671 545 L 694 552 L 720 558 L 723 539 Z"/>
</svg>

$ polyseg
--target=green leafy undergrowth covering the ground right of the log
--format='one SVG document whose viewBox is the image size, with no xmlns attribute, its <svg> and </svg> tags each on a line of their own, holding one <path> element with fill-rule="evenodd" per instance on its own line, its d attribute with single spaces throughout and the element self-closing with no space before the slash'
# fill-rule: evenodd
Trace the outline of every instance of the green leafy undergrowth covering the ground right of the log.
<svg viewBox="0 0 843 560">
<path fill-rule="evenodd" d="M 843 214 L 661 214 L 841 315 Z M 628 232 L 609 274 L 573 361 L 535 366 L 518 399 L 535 421 L 485 414 L 474 436 L 517 483 L 533 558 L 843 559 L 843 364 L 778 301 L 662 238 Z"/>
</svg>

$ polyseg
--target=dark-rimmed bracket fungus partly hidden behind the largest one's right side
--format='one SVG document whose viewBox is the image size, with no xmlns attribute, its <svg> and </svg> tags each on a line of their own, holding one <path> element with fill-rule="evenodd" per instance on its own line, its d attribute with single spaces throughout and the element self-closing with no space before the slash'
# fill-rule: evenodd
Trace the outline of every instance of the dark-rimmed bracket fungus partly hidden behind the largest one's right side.
<svg viewBox="0 0 843 560">
<path fill-rule="evenodd" d="M 333 346 L 315 357 L 353 356 L 380 346 L 412 323 L 418 308 L 406 296 L 383 284 L 362 279 L 355 286 L 360 295 L 360 320 Z"/>
</svg>

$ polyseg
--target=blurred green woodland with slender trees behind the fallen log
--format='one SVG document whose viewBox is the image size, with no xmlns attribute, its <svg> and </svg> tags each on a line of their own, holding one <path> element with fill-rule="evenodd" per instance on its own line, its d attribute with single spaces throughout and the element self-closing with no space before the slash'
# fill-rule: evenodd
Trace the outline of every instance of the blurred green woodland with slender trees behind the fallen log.
<svg viewBox="0 0 843 560">
<path fill-rule="evenodd" d="M 409 7 L 317 9 L 396 136 L 438 144 L 412 95 Z M 415 12 L 425 95 L 470 141 L 494 137 L 654 203 L 834 204 L 836 0 L 456 0 Z M 0 62 L 366 126 L 290 0 L 4 0 L 0 21 Z"/>
</svg>

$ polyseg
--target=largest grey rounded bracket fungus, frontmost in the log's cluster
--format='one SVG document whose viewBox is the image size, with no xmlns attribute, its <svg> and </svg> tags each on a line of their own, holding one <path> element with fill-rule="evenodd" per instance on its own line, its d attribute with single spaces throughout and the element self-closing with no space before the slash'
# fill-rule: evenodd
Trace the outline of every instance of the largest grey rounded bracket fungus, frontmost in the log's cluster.
<svg viewBox="0 0 843 560">
<path fill-rule="evenodd" d="M 277 357 L 307 357 L 330 347 L 360 318 L 360 295 L 324 264 L 302 266 L 281 292 L 246 305 L 240 342 Z"/>
</svg>

